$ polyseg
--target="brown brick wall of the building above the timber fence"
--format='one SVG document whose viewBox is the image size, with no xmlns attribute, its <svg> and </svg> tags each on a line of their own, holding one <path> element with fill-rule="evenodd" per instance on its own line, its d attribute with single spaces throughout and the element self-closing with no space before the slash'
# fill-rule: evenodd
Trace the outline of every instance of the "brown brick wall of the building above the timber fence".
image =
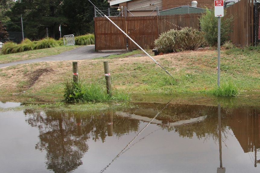
<svg viewBox="0 0 260 173">
<path fill-rule="evenodd" d="M 162 0 L 162 5 L 163 5 L 163 9 L 162 10 L 167 10 L 170 8 L 175 8 L 175 7 L 179 7 L 182 5 L 190 5 L 191 6 L 191 2 L 192 0 L 184 0 L 184 1 L 180 1 L 180 0 Z M 214 0 L 197 0 L 198 8 L 214 8 Z"/>
</svg>

